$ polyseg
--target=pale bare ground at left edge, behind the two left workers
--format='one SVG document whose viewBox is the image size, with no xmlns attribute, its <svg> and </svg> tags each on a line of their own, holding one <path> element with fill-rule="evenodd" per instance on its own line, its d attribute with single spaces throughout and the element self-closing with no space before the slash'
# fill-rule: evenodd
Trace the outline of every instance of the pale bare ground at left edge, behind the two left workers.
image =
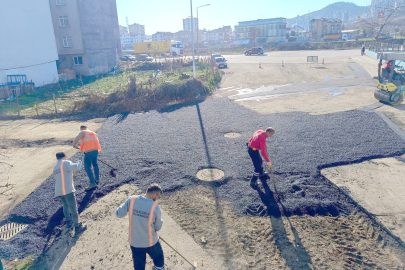
<svg viewBox="0 0 405 270">
<path fill-rule="evenodd" d="M 80 125 L 97 130 L 103 123 L 101 118 L 0 121 L 0 219 L 52 174 L 57 152 L 68 157 L 77 152 L 72 142 Z"/>
</svg>

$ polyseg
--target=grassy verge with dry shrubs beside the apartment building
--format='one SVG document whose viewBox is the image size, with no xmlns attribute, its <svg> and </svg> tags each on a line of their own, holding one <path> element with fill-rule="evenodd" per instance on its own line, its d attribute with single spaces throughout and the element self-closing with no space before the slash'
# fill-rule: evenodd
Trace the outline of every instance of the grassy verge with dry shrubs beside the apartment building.
<svg viewBox="0 0 405 270">
<path fill-rule="evenodd" d="M 214 90 L 221 80 L 221 74 L 213 74 L 209 57 L 197 58 L 196 75 L 201 81 L 204 90 L 198 93 L 200 95 L 209 93 Z M 117 75 L 99 75 L 91 77 L 83 77 L 82 80 L 71 80 L 60 82 L 57 84 L 47 85 L 35 89 L 35 93 L 24 94 L 19 96 L 19 107 L 21 116 L 36 116 L 36 115 L 52 115 L 52 114 L 69 114 L 78 113 L 81 111 L 100 112 L 103 110 L 95 110 L 91 101 L 96 102 L 103 100 L 106 102 L 106 97 L 116 93 L 116 97 L 122 95 L 129 88 L 133 88 L 131 83 L 135 78 L 137 88 L 143 92 L 150 91 L 149 94 L 155 96 L 156 104 L 161 106 L 165 104 L 169 97 L 161 96 L 156 93 L 159 91 L 167 92 L 165 89 L 172 89 L 172 85 L 183 85 L 187 78 L 192 77 L 192 62 L 189 58 L 176 58 L 172 60 L 162 60 L 161 62 L 146 62 L 146 63 L 131 63 L 124 62 L 121 67 L 122 73 Z M 190 86 L 190 84 L 188 84 Z M 180 88 L 182 88 L 181 86 Z M 179 90 L 180 91 L 180 90 Z M 181 90 L 183 91 L 183 90 Z M 181 92 L 180 91 L 180 92 Z M 177 92 L 176 92 L 177 93 Z M 191 92 L 190 92 L 191 93 Z M 140 93 L 139 93 L 140 94 Z M 149 95 L 146 92 L 144 95 Z M 55 95 L 55 101 L 53 96 Z M 139 97 L 141 97 L 140 95 Z M 132 97 L 133 98 L 133 97 Z M 173 98 L 173 97 L 172 97 Z M 175 95 L 176 100 L 183 96 Z M 184 96 L 189 100 L 189 96 Z M 162 99 L 162 100 L 161 100 Z M 111 100 L 111 99 L 108 99 Z M 163 101 L 164 100 L 164 101 Z M 0 114 L 16 115 L 18 112 L 17 103 L 2 102 L 0 103 Z M 86 104 L 84 106 L 83 104 Z M 138 106 L 143 109 L 150 109 L 152 101 L 148 101 L 148 106 Z M 56 107 L 56 112 L 55 112 Z M 116 104 L 109 104 L 108 107 L 114 108 L 113 112 L 118 111 Z M 106 113 L 112 112 L 111 109 L 104 109 Z M 138 108 L 133 106 L 125 106 L 126 108 Z M 150 108 L 149 108 L 150 107 Z M 93 108 L 93 109 L 89 109 Z M 102 107 L 104 108 L 104 107 Z"/>
</svg>

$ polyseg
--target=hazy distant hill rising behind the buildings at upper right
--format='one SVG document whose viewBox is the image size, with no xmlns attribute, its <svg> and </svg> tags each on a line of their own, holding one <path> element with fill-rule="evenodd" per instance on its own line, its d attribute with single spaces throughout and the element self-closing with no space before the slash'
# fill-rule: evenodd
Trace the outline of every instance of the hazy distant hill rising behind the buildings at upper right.
<svg viewBox="0 0 405 270">
<path fill-rule="evenodd" d="M 348 2 L 336 2 L 324 7 L 321 10 L 313 11 L 295 18 L 287 19 L 289 26 L 298 24 L 304 29 L 308 28 L 308 21 L 320 18 L 338 18 L 345 23 L 353 22 L 357 19 L 357 15 L 361 15 L 370 11 L 370 6 L 362 7 Z"/>
</svg>

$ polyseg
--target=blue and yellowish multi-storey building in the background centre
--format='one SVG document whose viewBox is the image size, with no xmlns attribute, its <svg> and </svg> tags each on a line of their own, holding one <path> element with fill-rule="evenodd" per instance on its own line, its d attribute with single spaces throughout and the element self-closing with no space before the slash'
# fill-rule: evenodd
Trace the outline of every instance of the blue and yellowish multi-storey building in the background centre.
<svg viewBox="0 0 405 270">
<path fill-rule="evenodd" d="M 258 39 L 266 42 L 286 40 L 286 18 L 259 19 L 254 21 L 239 22 L 235 26 L 235 38 L 240 40 Z"/>
</svg>

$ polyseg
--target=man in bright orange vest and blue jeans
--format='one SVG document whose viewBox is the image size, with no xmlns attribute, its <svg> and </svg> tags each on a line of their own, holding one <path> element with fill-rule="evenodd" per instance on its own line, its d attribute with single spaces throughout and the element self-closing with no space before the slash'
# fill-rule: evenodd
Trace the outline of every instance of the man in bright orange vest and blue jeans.
<svg viewBox="0 0 405 270">
<path fill-rule="evenodd" d="M 80 152 L 84 152 L 84 169 L 86 170 L 87 176 L 90 179 L 90 186 L 86 188 L 91 190 L 97 187 L 100 181 L 100 171 L 98 168 L 97 158 L 98 152 L 101 152 L 100 142 L 98 141 L 98 135 L 94 131 L 87 129 L 86 126 L 80 127 L 80 133 L 73 140 L 73 147 L 80 149 Z M 80 148 L 77 144 L 80 141 Z M 94 175 L 91 170 L 91 165 L 94 167 Z"/>
</svg>

